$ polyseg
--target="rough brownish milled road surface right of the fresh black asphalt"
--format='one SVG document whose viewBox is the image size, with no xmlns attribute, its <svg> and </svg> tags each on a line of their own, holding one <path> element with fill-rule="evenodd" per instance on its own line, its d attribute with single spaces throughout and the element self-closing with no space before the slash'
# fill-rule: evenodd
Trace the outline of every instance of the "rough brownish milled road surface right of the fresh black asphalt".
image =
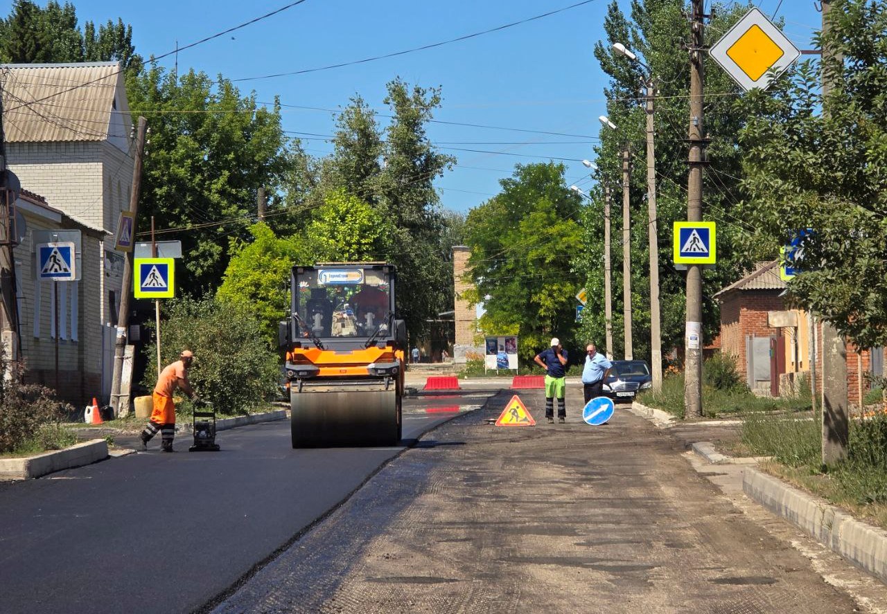
<svg viewBox="0 0 887 614">
<path fill-rule="evenodd" d="M 567 424 L 546 424 L 537 391 L 520 392 L 536 427 L 486 424 L 504 390 L 432 431 L 214 611 L 860 608 L 697 473 L 682 441 L 625 408 L 588 426 L 575 390 Z M 887 604 L 880 591 L 869 605 Z"/>
</svg>

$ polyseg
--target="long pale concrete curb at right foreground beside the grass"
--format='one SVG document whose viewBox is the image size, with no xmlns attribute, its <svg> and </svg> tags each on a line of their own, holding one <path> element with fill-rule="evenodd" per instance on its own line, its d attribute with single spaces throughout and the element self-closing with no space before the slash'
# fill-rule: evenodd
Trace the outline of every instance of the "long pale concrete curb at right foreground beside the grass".
<svg viewBox="0 0 887 614">
<path fill-rule="evenodd" d="M 887 582 L 887 532 L 751 467 L 743 472 L 742 491 L 838 555 Z"/>
</svg>

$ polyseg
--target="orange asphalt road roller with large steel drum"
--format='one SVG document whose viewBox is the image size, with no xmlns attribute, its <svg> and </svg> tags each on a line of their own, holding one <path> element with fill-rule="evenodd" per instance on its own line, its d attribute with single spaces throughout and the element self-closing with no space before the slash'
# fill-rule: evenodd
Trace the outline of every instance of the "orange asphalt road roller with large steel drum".
<svg viewBox="0 0 887 614">
<path fill-rule="evenodd" d="M 401 439 L 406 325 L 385 262 L 295 266 L 280 326 L 293 447 L 394 446 Z"/>
</svg>

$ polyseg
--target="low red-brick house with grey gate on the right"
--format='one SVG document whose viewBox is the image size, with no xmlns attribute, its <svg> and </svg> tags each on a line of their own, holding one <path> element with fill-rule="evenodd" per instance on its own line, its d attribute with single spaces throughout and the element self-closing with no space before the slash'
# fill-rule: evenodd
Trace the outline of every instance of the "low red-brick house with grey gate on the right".
<svg viewBox="0 0 887 614">
<path fill-rule="evenodd" d="M 822 324 L 817 321 L 812 326 L 807 312 L 786 306 L 787 287 L 779 261 L 773 260 L 758 263 L 749 275 L 713 296 L 721 307 L 721 352 L 734 357 L 746 383 L 759 393 L 779 395 L 802 374 L 809 377 L 812 346 L 816 388 L 822 389 Z M 852 405 L 865 395 L 866 371 L 883 375 L 883 356 L 883 348 L 865 348 L 857 354 L 852 344 L 847 345 L 847 393 Z"/>
</svg>

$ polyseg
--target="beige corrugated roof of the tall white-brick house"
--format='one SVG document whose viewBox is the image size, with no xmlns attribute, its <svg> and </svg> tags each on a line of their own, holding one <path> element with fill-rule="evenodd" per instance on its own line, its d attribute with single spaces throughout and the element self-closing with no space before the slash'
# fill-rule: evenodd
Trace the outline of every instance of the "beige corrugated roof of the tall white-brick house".
<svg viewBox="0 0 887 614">
<path fill-rule="evenodd" d="M 104 141 L 113 125 L 129 125 L 118 62 L 3 64 L 0 72 L 9 143 Z"/>
</svg>

